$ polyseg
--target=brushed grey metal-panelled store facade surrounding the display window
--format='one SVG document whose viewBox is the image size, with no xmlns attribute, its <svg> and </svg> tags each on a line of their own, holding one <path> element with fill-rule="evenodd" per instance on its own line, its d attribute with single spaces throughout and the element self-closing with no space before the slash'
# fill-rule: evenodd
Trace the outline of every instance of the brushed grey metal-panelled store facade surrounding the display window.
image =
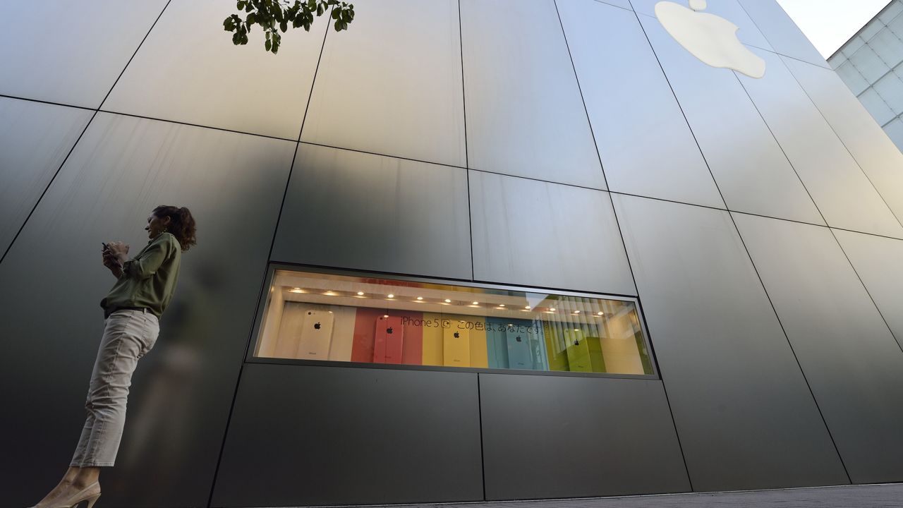
<svg viewBox="0 0 903 508">
<path fill-rule="evenodd" d="M 133 377 L 107 503 L 903 481 L 903 155 L 845 125 L 864 110 L 772 0 L 709 3 L 762 80 L 696 61 L 652 5 L 358 0 L 348 32 L 320 20 L 278 55 L 232 46 L 215 0 L 12 7 L 9 501 L 49 490 L 78 440 L 99 242 L 140 249 L 163 203 L 191 208 L 199 243 Z M 256 358 L 271 264 L 636 297 L 656 372 Z"/>
</svg>

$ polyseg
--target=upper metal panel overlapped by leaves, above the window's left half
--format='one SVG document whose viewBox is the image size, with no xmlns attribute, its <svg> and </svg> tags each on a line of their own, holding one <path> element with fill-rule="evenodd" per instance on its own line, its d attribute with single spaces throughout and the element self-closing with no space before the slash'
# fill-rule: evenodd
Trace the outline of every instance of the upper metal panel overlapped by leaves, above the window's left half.
<svg viewBox="0 0 903 508">
<path fill-rule="evenodd" d="M 458 2 L 354 9 L 349 31 L 326 38 L 302 141 L 466 166 Z"/>
</svg>

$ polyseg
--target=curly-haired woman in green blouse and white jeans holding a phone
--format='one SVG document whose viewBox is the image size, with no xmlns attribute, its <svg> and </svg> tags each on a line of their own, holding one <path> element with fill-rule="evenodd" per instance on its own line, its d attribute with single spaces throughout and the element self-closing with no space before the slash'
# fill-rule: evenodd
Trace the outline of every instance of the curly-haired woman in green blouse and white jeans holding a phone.
<svg viewBox="0 0 903 508">
<path fill-rule="evenodd" d="M 88 385 L 88 419 L 70 468 L 60 484 L 33 508 L 68 508 L 100 497 L 101 466 L 113 466 L 126 424 L 126 399 L 132 372 L 160 332 L 159 319 L 172 300 L 182 252 L 197 242 L 191 212 L 185 207 L 158 206 L 147 218 L 144 249 L 127 259 L 128 245 L 104 244 L 103 264 L 116 284 L 100 302 L 104 334 Z"/>
</svg>

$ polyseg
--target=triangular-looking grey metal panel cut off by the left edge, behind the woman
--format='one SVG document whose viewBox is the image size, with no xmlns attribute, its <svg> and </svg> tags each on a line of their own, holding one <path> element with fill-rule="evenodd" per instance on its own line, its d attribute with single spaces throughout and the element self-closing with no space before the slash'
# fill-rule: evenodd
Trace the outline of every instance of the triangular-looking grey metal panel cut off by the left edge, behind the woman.
<svg viewBox="0 0 903 508">
<path fill-rule="evenodd" d="M 0 97 L 0 257 L 92 112 Z"/>
</svg>

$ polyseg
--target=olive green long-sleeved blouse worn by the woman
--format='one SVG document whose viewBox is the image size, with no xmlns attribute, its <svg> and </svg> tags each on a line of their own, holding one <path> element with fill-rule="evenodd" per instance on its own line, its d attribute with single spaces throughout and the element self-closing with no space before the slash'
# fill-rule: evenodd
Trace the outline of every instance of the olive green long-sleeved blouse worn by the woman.
<svg viewBox="0 0 903 508">
<path fill-rule="evenodd" d="M 157 235 L 135 258 L 123 263 L 122 277 L 100 306 L 110 311 L 116 307 L 147 307 L 159 318 L 172 300 L 181 260 L 179 240 L 168 232 Z"/>
</svg>

